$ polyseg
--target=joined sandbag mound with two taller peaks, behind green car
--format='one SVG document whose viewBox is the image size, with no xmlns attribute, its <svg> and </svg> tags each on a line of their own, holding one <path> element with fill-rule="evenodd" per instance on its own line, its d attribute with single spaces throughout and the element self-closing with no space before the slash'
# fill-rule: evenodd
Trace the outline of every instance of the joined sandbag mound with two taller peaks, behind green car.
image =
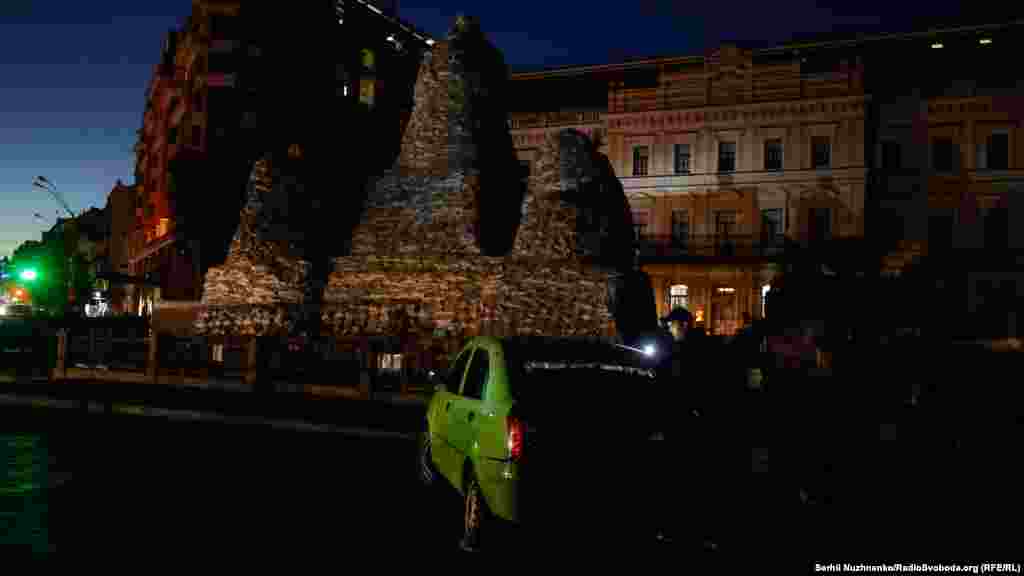
<svg viewBox="0 0 1024 576">
<path fill-rule="evenodd" d="M 490 222 L 481 204 L 509 192 L 481 188 L 495 180 L 481 173 L 477 160 L 486 151 L 477 145 L 511 152 L 512 143 L 504 122 L 504 133 L 472 129 L 473 114 L 501 86 L 487 92 L 467 70 L 474 64 L 467 54 L 488 47 L 478 30 L 470 24 L 460 35 L 424 58 L 399 158 L 372 184 L 351 254 L 334 260 L 325 327 L 338 336 L 613 335 L 607 299 L 614 272 L 589 261 L 580 209 L 562 198 L 604 175 L 579 160 L 596 154 L 583 134 L 555 134 L 541 146 L 511 250 L 481 250 L 481 229 Z M 580 145 L 575 154 L 563 154 L 566 138 Z M 565 171 L 573 177 L 563 178 Z M 517 179 L 512 169 L 503 177 Z"/>
</svg>

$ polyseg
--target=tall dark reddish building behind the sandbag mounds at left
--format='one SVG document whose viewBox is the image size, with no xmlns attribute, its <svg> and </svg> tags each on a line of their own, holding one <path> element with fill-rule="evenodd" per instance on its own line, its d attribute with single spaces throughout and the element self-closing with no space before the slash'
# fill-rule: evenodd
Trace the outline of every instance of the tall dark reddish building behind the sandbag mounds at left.
<svg viewBox="0 0 1024 576">
<path fill-rule="evenodd" d="M 372 117 L 368 129 L 391 126 L 396 154 L 428 41 L 395 17 L 393 3 L 344 0 L 282 12 L 195 0 L 165 43 L 136 147 L 130 273 L 155 284 L 137 291 L 136 307 L 201 298 L 203 277 L 223 261 L 238 224 L 252 163 L 286 140 L 309 139 L 307 132 L 333 134 L 332 98 Z"/>
</svg>

